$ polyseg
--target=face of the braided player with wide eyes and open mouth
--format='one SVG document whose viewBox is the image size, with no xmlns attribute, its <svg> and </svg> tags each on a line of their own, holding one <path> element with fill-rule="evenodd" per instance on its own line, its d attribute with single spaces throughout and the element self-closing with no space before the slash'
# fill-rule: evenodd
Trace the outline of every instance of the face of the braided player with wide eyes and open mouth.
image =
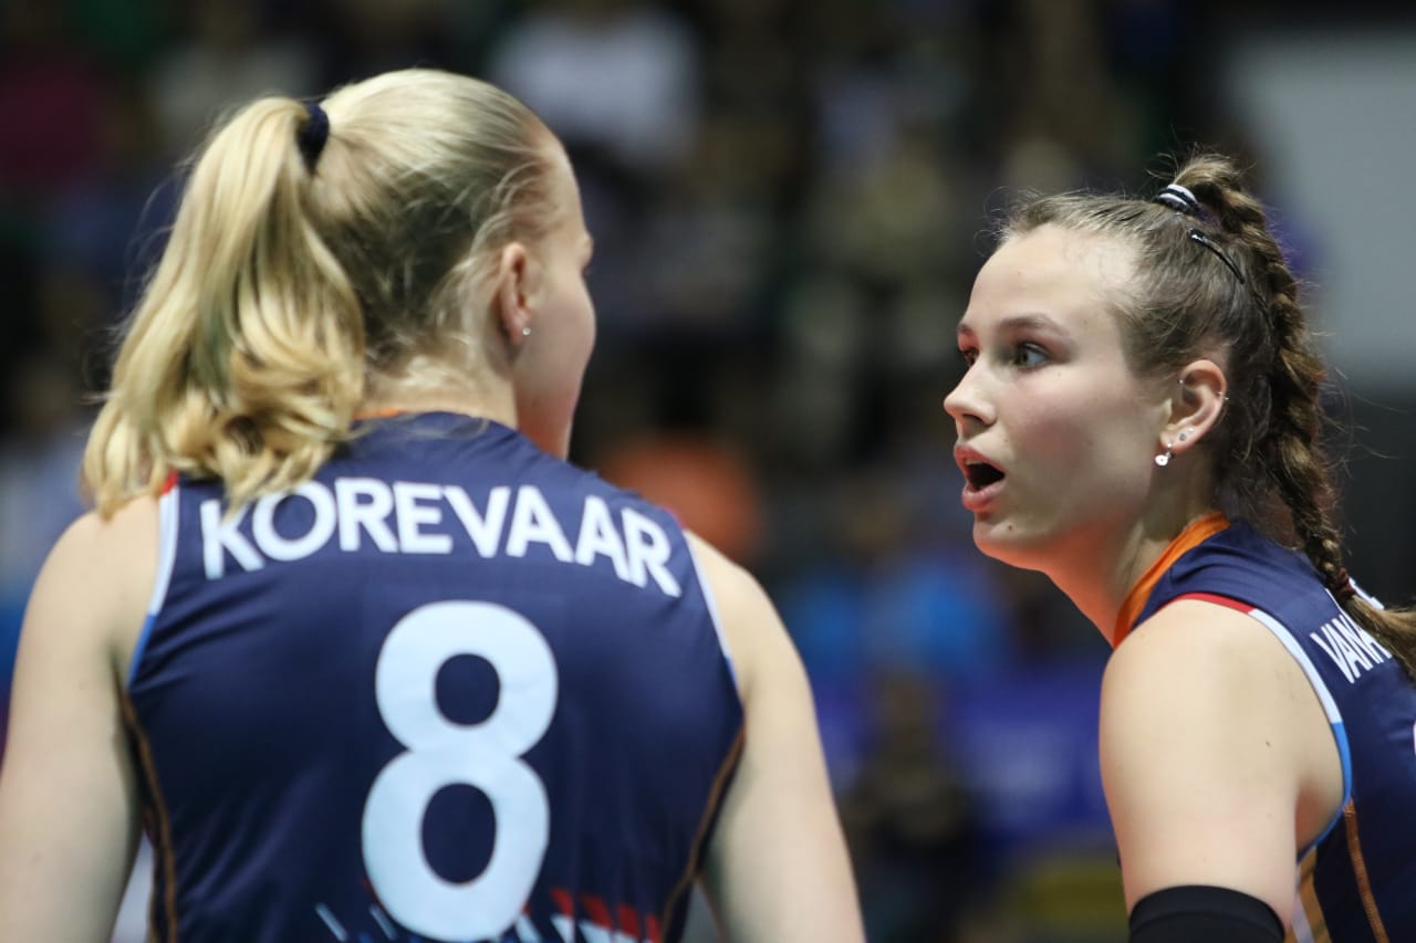
<svg viewBox="0 0 1416 943">
<path fill-rule="evenodd" d="M 1168 401 L 1129 368 L 1119 242 L 1045 225 L 1004 244 L 959 324 L 969 364 L 944 398 L 974 542 L 1049 571 L 1114 545 L 1141 517 Z"/>
</svg>

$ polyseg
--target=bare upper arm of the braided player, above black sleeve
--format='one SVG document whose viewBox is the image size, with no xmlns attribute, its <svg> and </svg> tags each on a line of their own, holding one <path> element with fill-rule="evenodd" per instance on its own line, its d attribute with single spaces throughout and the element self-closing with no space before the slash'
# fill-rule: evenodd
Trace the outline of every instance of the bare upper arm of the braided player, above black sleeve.
<svg viewBox="0 0 1416 943">
<path fill-rule="evenodd" d="M 1171 603 L 1116 650 L 1100 748 L 1127 910 L 1154 891 L 1212 885 L 1289 923 L 1308 728 L 1321 724 L 1303 687 L 1263 626 L 1198 600 Z"/>
</svg>

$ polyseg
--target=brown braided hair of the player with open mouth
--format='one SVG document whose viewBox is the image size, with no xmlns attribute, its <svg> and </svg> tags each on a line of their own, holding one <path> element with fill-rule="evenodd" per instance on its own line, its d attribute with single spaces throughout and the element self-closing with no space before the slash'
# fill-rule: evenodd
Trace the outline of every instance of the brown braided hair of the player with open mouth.
<svg viewBox="0 0 1416 943">
<path fill-rule="evenodd" d="M 1208 438 L 1216 501 L 1301 547 L 1348 615 L 1416 677 L 1416 610 L 1374 607 L 1342 565 L 1337 490 L 1320 440 L 1327 374 L 1263 205 L 1225 157 L 1195 157 L 1174 183 L 1194 194 L 1198 212 L 1120 195 L 1062 194 L 1017 207 L 1001 235 L 1055 224 L 1137 249 L 1137 275 L 1114 306 L 1130 365 L 1140 375 L 1165 377 L 1216 347 L 1226 354 L 1229 401 Z"/>
</svg>

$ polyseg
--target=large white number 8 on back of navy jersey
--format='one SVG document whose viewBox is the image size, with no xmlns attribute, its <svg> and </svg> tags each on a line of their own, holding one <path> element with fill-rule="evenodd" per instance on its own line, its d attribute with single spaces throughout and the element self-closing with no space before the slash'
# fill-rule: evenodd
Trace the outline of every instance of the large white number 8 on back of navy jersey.
<svg viewBox="0 0 1416 943">
<path fill-rule="evenodd" d="M 497 673 L 497 707 L 480 724 L 456 724 L 438 709 L 438 671 L 456 656 L 480 656 Z M 521 913 L 545 857 L 551 807 L 521 755 L 555 712 L 551 647 L 506 606 L 430 603 L 388 633 L 374 690 L 384 724 L 408 748 L 379 772 L 364 804 L 364 867 L 374 892 L 415 933 L 498 937 Z M 491 859 L 464 884 L 438 875 L 422 844 L 428 804 L 453 784 L 481 790 L 496 816 Z"/>
</svg>

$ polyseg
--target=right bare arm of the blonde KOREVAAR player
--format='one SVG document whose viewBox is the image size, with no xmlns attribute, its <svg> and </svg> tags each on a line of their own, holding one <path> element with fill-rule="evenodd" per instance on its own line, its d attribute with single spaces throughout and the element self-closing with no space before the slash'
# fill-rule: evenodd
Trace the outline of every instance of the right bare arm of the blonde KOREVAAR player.
<svg viewBox="0 0 1416 943">
<path fill-rule="evenodd" d="M 862 940 L 801 661 L 758 582 L 701 541 L 694 554 L 746 714 L 742 760 L 708 847 L 708 898 L 731 940 Z"/>
</svg>

